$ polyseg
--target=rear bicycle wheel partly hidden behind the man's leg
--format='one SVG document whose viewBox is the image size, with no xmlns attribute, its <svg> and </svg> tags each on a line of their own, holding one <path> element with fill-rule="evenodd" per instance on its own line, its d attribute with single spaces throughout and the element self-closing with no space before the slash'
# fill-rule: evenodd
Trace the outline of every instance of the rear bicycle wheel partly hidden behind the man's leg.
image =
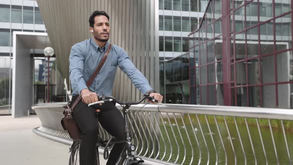
<svg viewBox="0 0 293 165">
<path fill-rule="evenodd" d="M 79 147 L 80 147 L 80 142 L 73 141 L 73 144 L 71 146 L 71 154 L 69 157 L 69 165 L 79 165 Z M 100 165 L 98 148 L 96 148 L 95 156 L 96 157 L 95 157 L 94 165 Z"/>
</svg>

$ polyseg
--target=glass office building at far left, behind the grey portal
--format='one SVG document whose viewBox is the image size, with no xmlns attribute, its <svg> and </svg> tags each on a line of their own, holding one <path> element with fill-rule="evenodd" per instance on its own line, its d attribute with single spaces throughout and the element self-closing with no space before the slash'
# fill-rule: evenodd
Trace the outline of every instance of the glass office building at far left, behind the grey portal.
<svg viewBox="0 0 293 165">
<path fill-rule="evenodd" d="M 13 31 L 46 32 L 35 0 L 0 0 L 0 114 L 11 114 Z M 44 74 L 38 72 L 44 55 L 42 50 L 31 50 L 31 56 L 36 64 L 32 74 L 39 83 L 36 75 Z"/>
</svg>

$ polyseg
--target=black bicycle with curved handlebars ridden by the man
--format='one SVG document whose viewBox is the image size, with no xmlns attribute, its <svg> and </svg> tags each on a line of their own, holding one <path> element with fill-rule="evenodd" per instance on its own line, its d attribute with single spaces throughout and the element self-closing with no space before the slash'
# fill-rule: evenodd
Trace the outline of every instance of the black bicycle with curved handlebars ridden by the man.
<svg viewBox="0 0 293 165">
<path fill-rule="evenodd" d="M 123 101 L 117 100 L 115 97 L 112 97 L 112 96 L 106 96 L 106 97 L 99 96 L 100 101 L 88 104 L 88 106 L 91 106 L 91 105 L 94 105 L 97 103 L 105 103 L 105 102 L 109 102 L 109 101 L 114 101 L 123 107 L 122 111 L 123 111 L 123 118 L 124 118 L 125 139 L 119 140 L 119 139 L 115 139 L 115 137 L 112 136 L 109 140 L 103 140 L 102 138 L 97 136 L 96 150 L 95 150 L 95 152 L 96 152 L 95 165 L 100 165 L 98 147 L 105 148 L 104 153 L 103 153 L 103 157 L 105 160 L 107 160 L 109 157 L 108 148 L 111 147 L 112 145 L 114 145 L 115 143 L 124 143 L 125 144 L 116 165 L 141 165 L 144 163 L 144 160 L 135 156 L 136 146 L 132 145 L 132 143 L 131 143 L 132 137 L 130 136 L 130 128 L 129 128 L 129 124 L 128 124 L 128 110 L 131 105 L 139 104 L 139 103 L 143 102 L 145 99 L 148 99 L 152 102 L 158 102 L 158 100 L 155 100 L 154 98 L 150 97 L 149 95 L 144 95 L 137 102 L 123 102 Z M 99 114 L 99 112 L 96 111 L 95 117 L 97 119 L 97 124 L 99 122 L 98 121 L 98 114 Z M 73 144 L 70 147 L 71 155 L 70 155 L 70 159 L 69 159 L 69 165 L 79 165 L 80 141 L 81 140 L 73 141 Z"/>
</svg>

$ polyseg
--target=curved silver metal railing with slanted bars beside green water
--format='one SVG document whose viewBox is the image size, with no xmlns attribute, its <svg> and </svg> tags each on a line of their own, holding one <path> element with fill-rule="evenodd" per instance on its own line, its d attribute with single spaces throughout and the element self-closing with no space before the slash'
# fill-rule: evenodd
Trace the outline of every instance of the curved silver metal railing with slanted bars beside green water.
<svg viewBox="0 0 293 165">
<path fill-rule="evenodd" d="M 69 139 L 60 125 L 62 105 L 32 108 L 42 122 L 40 130 Z M 129 111 L 140 156 L 181 165 L 292 165 L 293 110 L 148 104 L 139 111 L 143 105 L 131 106 Z M 99 127 L 100 136 L 110 138 Z"/>
</svg>

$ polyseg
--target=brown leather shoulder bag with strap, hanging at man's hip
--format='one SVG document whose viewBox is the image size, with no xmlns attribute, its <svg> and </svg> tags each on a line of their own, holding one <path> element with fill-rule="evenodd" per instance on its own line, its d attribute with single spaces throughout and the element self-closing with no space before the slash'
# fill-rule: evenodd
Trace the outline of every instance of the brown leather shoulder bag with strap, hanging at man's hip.
<svg viewBox="0 0 293 165">
<path fill-rule="evenodd" d="M 98 75 L 98 73 L 100 72 L 101 68 L 103 67 L 105 61 L 107 60 L 108 54 L 111 50 L 112 44 L 109 45 L 106 53 L 104 54 L 100 64 L 98 65 L 98 67 L 96 68 L 95 72 L 91 75 L 91 77 L 89 78 L 89 80 L 86 82 L 86 86 L 89 87 L 90 84 L 93 82 L 93 80 L 95 79 L 95 77 Z M 71 104 L 71 101 L 69 101 L 66 105 L 64 105 L 64 117 L 61 120 L 61 125 L 63 127 L 64 130 L 67 130 L 68 134 L 70 135 L 70 137 L 73 140 L 80 140 L 80 133 L 79 133 L 79 128 L 76 125 L 73 116 L 72 116 L 72 112 L 74 107 L 77 105 L 77 103 L 81 100 L 81 95 L 79 95 L 74 102 Z"/>
</svg>

